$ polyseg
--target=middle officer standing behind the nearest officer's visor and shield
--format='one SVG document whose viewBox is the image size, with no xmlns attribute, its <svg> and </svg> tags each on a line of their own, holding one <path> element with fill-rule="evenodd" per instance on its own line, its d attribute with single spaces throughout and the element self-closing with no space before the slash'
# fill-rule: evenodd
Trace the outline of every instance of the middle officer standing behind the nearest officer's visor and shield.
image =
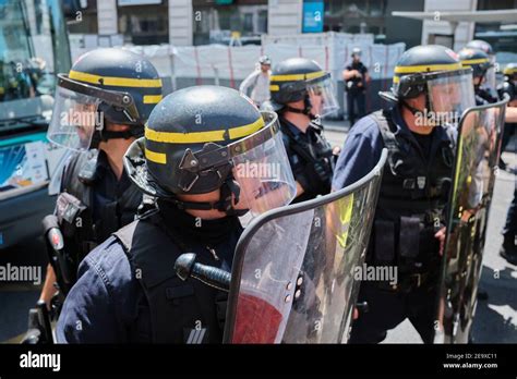
<svg viewBox="0 0 517 379">
<path fill-rule="evenodd" d="M 280 118 L 284 143 L 297 180 L 297 198 L 303 201 L 330 192 L 335 156 L 323 136 L 321 117 L 335 111 L 328 72 L 304 58 L 287 59 L 270 76 L 272 107 Z"/>
</svg>

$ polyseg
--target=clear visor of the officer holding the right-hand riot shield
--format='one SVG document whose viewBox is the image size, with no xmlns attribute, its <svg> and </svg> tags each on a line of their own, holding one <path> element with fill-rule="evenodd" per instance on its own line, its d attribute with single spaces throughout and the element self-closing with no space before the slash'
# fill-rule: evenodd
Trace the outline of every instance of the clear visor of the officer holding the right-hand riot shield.
<svg viewBox="0 0 517 379">
<path fill-rule="evenodd" d="M 464 111 L 476 106 L 471 69 L 425 74 L 425 81 L 435 124 L 456 126 Z"/>
</svg>

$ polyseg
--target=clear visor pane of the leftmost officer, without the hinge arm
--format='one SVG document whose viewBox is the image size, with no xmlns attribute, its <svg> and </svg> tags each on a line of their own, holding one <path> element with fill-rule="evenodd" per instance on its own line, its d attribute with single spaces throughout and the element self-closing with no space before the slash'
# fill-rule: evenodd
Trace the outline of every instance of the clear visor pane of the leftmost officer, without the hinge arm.
<svg viewBox="0 0 517 379">
<path fill-rule="evenodd" d="M 98 105 L 95 97 L 58 86 L 47 138 L 71 150 L 87 150 L 95 129 L 103 126 Z"/>
</svg>

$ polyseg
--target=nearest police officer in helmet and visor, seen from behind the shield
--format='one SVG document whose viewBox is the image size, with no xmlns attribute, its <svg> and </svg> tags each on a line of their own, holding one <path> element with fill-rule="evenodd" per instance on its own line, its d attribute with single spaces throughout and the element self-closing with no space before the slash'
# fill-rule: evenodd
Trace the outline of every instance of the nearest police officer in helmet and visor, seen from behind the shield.
<svg viewBox="0 0 517 379">
<path fill-rule="evenodd" d="M 226 295 L 181 281 L 173 266 L 182 253 L 195 253 L 199 262 L 230 270 L 242 232 L 238 216 L 292 199 L 277 115 L 261 114 L 235 89 L 184 88 L 154 109 L 125 164 L 134 183 L 157 197 L 156 209 L 83 260 L 58 341 L 221 342 Z"/>
</svg>

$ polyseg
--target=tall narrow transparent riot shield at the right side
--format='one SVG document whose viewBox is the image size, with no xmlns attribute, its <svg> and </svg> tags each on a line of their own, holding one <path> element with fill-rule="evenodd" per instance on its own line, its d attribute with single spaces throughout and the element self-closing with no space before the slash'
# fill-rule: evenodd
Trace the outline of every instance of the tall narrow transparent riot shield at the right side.
<svg viewBox="0 0 517 379">
<path fill-rule="evenodd" d="M 506 101 L 461 117 L 448 204 L 435 325 L 436 343 L 466 343 L 476 311 Z"/>
</svg>

